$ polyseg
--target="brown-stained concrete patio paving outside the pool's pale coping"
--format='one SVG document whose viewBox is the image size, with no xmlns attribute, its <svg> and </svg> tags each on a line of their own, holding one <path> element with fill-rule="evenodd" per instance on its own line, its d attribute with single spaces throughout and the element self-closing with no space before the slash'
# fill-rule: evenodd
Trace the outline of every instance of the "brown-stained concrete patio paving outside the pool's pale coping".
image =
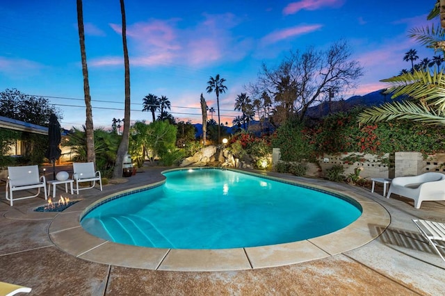
<svg viewBox="0 0 445 296">
<path fill-rule="evenodd" d="M 102 192 L 91 189 L 66 196 L 90 203 L 113 192 L 160 181 L 162 170 L 165 168 L 145 168 L 126 183 L 104 186 Z M 445 222 L 445 202 L 423 202 L 416 210 L 410 199 L 382 197 L 382 188 L 371 193 L 366 188 L 320 179 L 270 175 L 354 192 L 378 202 L 391 215 L 389 227 L 362 247 L 280 267 L 213 272 L 147 270 L 67 254 L 49 235 L 58 213 L 30 211 L 44 203 L 39 198 L 19 200 L 10 207 L 3 194 L 0 281 L 29 286 L 33 288 L 29 295 L 443 295 L 445 262 L 423 242 L 411 219 Z M 1 183 L 3 192 L 4 186 Z M 79 215 L 76 205 L 70 208 L 70 215 Z M 370 231 L 373 227 L 369 226 Z M 83 243 L 76 242 L 76 236 L 72 240 Z"/>
</svg>

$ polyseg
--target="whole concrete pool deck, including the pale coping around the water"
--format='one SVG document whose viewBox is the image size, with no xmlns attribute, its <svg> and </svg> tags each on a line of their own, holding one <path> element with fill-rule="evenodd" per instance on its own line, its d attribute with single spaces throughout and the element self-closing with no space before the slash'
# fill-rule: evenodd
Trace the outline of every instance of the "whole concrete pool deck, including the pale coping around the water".
<svg viewBox="0 0 445 296">
<path fill-rule="evenodd" d="M 423 242 L 411 219 L 445 222 L 445 202 L 423 202 L 421 209 L 416 210 L 409 199 L 382 197 L 379 195 L 382 188 L 371 193 L 365 188 L 321 179 L 270 173 L 353 196 L 364 204 L 364 210 L 369 208 L 374 220 L 357 221 L 362 228 L 344 230 L 346 232 L 341 237 L 332 236 L 322 242 L 317 242 L 316 238 L 314 241 L 295 242 L 292 244 L 296 245 L 278 250 L 270 247 L 266 251 L 272 253 L 263 249 L 258 257 L 252 250 L 241 249 L 243 256 L 240 262 L 243 264 L 246 258 L 259 259 L 248 260 L 248 265 L 242 265 L 243 268 L 227 268 L 232 269 L 230 271 L 218 268 L 222 262 L 228 265 L 234 261 L 235 265 L 240 265 L 236 254 L 227 256 L 208 251 L 209 256 L 193 256 L 186 252 L 185 256 L 182 254 L 176 259 L 172 256 L 171 260 L 166 260 L 166 251 L 161 255 L 149 254 L 159 249 L 147 251 L 147 248 L 123 247 L 105 241 L 93 241 L 91 245 L 91 240 L 100 239 L 86 238 L 83 229 L 79 228 L 79 215 L 83 208 L 114 192 L 161 181 L 162 170 L 159 167 L 147 168 L 129 178 L 127 183 L 104 186 L 103 192 L 91 189 L 81 191 L 79 196 L 67 194 L 71 199 L 79 197 L 83 201 L 63 213 L 34 212 L 33 208 L 44 203 L 39 198 L 20 200 L 10 207 L 3 195 L 0 199 L 0 281 L 29 286 L 33 288 L 31 295 L 443 293 L 445 262 Z M 2 186 L 4 189 L 4 183 Z M 72 224 L 73 221 L 77 221 L 77 225 Z M 359 242 L 357 236 L 365 239 Z M 350 242 L 359 243 L 351 245 Z M 282 253 L 276 255 L 274 252 Z M 268 263 L 272 259 L 274 262 Z M 172 268 L 169 261 L 176 266 Z M 184 271 L 189 270 L 190 263 L 207 266 L 209 271 Z M 265 268 L 266 265 L 273 267 Z M 176 271 L 171 271 L 173 269 Z"/>
</svg>

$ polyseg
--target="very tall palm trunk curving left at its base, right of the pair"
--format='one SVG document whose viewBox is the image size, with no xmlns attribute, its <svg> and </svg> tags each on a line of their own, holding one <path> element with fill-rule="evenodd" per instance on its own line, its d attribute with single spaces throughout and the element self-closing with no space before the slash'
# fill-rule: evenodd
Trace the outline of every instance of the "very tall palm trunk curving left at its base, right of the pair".
<svg viewBox="0 0 445 296">
<path fill-rule="evenodd" d="M 120 13 L 122 14 L 122 44 L 124 47 L 124 68 L 125 68 L 125 110 L 124 110 L 124 131 L 122 132 L 122 140 L 118 148 L 116 163 L 113 171 L 113 178 L 122 176 L 122 163 L 124 156 L 127 154 L 130 135 L 130 63 L 127 49 L 127 21 L 125 19 L 124 0 L 120 0 Z"/>
</svg>

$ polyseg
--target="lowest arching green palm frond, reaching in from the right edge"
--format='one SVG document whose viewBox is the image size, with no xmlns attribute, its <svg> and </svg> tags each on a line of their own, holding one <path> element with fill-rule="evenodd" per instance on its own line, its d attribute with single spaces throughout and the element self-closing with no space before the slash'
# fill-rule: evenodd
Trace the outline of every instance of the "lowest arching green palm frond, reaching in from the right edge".
<svg viewBox="0 0 445 296">
<path fill-rule="evenodd" d="M 368 124 L 371 122 L 389 122 L 397 119 L 445 126 L 444 113 L 435 112 L 422 104 L 416 104 L 412 101 L 387 103 L 379 107 L 366 109 L 358 115 L 357 122 Z"/>
</svg>

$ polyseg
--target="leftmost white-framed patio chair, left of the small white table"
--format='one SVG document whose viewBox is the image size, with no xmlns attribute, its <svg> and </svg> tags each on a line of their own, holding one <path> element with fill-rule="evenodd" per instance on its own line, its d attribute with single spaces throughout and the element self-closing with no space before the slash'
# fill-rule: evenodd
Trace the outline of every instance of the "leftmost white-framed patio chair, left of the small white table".
<svg viewBox="0 0 445 296">
<path fill-rule="evenodd" d="M 6 181 L 6 199 L 13 206 L 13 201 L 18 199 L 28 199 L 40 195 L 40 188 L 43 188 L 44 199 L 48 199 L 46 180 L 44 176 L 39 176 L 38 165 L 26 165 L 22 167 L 8 167 L 8 180 Z M 17 190 L 28 190 L 37 188 L 37 194 L 26 197 L 13 197 L 13 192 Z"/>
</svg>

